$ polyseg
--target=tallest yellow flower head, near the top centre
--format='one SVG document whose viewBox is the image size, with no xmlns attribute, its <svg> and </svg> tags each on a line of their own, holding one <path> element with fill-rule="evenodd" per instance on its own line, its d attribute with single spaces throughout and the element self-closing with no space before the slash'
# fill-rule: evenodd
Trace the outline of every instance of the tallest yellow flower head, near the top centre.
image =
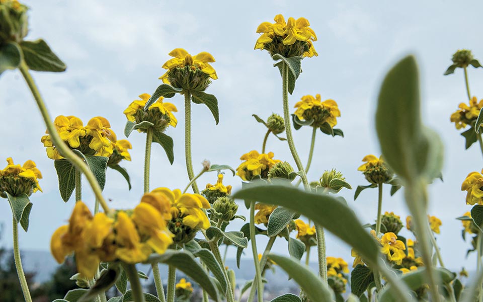
<svg viewBox="0 0 483 302">
<path fill-rule="evenodd" d="M 285 22 L 282 15 L 277 15 L 273 20 L 275 23 L 263 22 L 258 26 L 257 33 L 262 35 L 255 43 L 255 49 L 266 49 L 272 56 L 276 53 L 285 57 L 318 55 L 312 44 L 317 37 L 307 19 L 290 17 Z"/>
</svg>

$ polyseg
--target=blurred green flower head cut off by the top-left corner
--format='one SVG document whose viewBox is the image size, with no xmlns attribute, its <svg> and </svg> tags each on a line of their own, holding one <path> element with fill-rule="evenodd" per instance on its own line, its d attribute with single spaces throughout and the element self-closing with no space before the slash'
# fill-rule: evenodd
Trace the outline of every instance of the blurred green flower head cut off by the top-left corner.
<svg viewBox="0 0 483 302">
<path fill-rule="evenodd" d="M 0 45 L 20 43 L 29 31 L 28 8 L 17 0 L 0 0 Z"/>
</svg>

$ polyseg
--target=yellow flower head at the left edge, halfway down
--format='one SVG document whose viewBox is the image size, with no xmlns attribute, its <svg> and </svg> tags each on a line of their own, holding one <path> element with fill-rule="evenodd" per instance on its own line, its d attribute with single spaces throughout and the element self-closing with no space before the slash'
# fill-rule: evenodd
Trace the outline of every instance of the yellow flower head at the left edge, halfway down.
<svg viewBox="0 0 483 302">
<path fill-rule="evenodd" d="M 42 173 L 37 169 L 35 163 L 28 160 L 23 166 L 15 165 L 12 158 L 7 159 L 7 167 L 0 170 L 0 196 L 4 196 L 4 192 L 12 196 L 19 196 L 23 193 L 31 195 L 34 192 L 41 191 L 39 179 Z"/>
</svg>

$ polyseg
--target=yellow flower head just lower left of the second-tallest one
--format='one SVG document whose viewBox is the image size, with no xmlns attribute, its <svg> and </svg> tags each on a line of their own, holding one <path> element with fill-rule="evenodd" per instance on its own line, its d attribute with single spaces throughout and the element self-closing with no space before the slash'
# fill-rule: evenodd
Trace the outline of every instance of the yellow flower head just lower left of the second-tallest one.
<svg viewBox="0 0 483 302">
<path fill-rule="evenodd" d="M 164 131 L 169 125 L 176 127 L 178 120 L 173 112 L 178 112 L 178 109 L 172 103 L 163 103 L 164 98 L 159 97 L 147 111 L 144 111 L 144 106 L 151 95 L 143 93 L 139 95 L 141 100 L 134 100 L 124 110 L 124 114 L 131 122 L 140 123 L 148 121 L 154 124 L 154 128 L 158 131 Z M 141 131 L 141 130 L 139 130 Z"/>
</svg>

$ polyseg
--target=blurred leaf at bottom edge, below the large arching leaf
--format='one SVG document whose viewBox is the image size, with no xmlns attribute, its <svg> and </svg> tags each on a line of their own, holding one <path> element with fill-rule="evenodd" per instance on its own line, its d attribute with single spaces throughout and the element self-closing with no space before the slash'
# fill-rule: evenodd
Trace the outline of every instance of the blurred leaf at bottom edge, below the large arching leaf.
<svg viewBox="0 0 483 302">
<path fill-rule="evenodd" d="M 289 277 L 292 277 L 295 282 L 305 292 L 307 297 L 313 302 L 330 302 L 332 301 L 332 290 L 324 283 L 318 276 L 316 276 L 305 265 L 299 262 L 280 255 L 269 254 L 270 259 L 275 261 Z"/>
</svg>

